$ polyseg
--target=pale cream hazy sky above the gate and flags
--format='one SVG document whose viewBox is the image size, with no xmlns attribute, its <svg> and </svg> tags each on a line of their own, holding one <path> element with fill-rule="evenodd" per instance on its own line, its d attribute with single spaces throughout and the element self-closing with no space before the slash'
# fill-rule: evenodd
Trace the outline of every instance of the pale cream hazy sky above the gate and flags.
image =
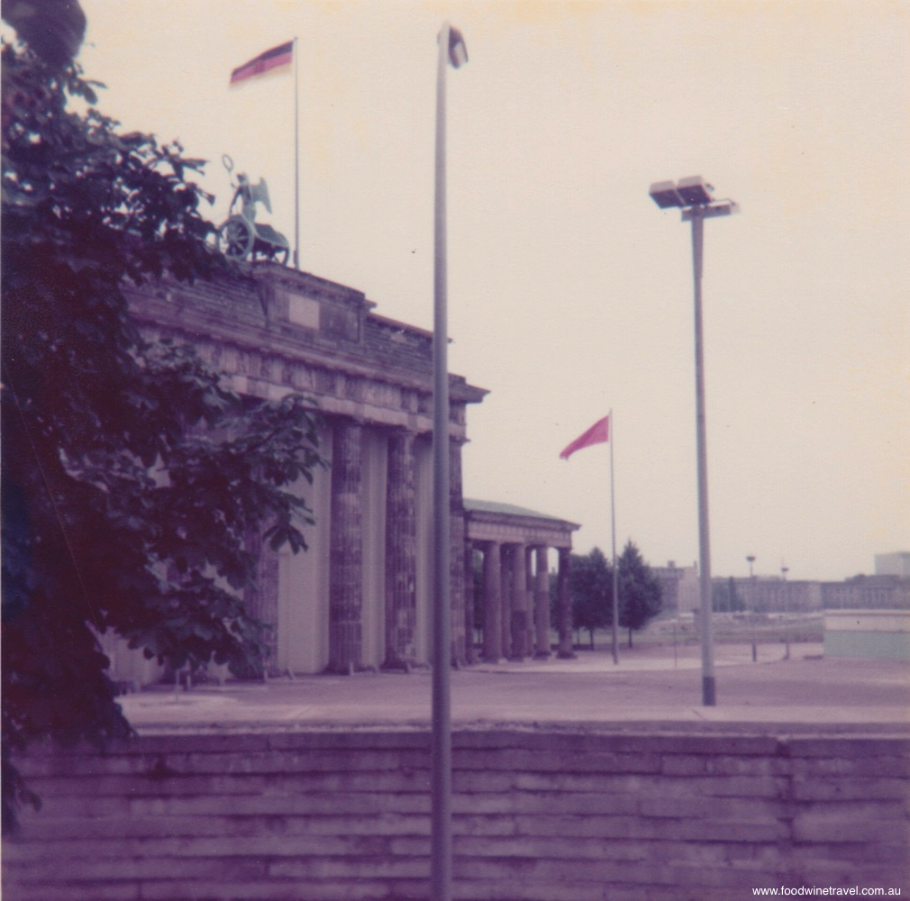
<svg viewBox="0 0 910 901">
<path fill-rule="evenodd" d="M 432 328 L 436 35 L 449 69 L 450 370 L 466 497 L 699 557 L 689 226 L 648 196 L 702 175 L 712 570 L 840 580 L 910 550 L 910 2 L 82 0 L 80 56 L 125 130 L 265 177 L 300 268 Z"/>
</svg>

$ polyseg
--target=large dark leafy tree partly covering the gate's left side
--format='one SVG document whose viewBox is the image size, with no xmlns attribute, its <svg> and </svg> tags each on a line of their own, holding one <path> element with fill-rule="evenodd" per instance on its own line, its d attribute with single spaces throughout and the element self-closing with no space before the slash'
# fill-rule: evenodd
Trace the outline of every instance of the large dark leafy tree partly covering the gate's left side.
<svg viewBox="0 0 910 901">
<path fill-rule="evenodd" d="M 15 5 L 15 4 L 14 4 Z M 6 4 L 4 6 L 6 12 Z M 324 464 L 312 402 L 240 397 L 187 348 L 144 340 L 123 287 L 209 278 L 202 166 L 119 134 L 74 65 L 4 43 L 4 824 L 34 801 L 11 764 L 36 740 L 130 729 L 97 634 L 180 668 L 261 671 L 244 607 L 252 531 L 306 547 L 293 486 Z"/>
</svg>

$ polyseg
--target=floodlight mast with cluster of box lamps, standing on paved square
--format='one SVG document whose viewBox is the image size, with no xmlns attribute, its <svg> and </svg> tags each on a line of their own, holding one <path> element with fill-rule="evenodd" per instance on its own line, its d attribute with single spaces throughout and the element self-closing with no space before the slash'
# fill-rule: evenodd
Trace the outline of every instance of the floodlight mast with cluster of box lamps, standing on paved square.
<svg viewBox="0 0 910 901">
<path fill-rule="evenodd" d="M 704 353 L 702 337 L 702 258 L 704 220 L 737 211 L 732 200 L 715 200 L 713 186 L 700 176 L 652 184 L 652 200 L 662 209 L 682 209 L 682 221 L 692 223 L 692 263 L 695 299 L 695 425 L 698 445 L 698 542 L 702 609 L 702 704 L 717 703 L 714 683 L 714 644 L 711 623 L 711 538 L 708 526 L 708 456 L 704 413 Z"/>
</svg>

